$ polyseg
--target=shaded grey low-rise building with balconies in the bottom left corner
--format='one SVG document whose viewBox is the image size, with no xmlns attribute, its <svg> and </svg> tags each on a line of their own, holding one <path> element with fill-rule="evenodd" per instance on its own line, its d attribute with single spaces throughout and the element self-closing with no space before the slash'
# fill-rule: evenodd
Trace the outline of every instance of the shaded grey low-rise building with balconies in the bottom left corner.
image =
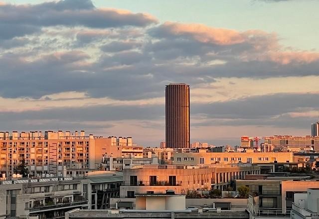
<svg viewBox="0 0 319 219">
<path fill-rule="evenodd" d="M 65 211 L 88 208 L 88 180 L 68 178 L 1 181 L 1 218 L 63 217 Z"/>
</svg>

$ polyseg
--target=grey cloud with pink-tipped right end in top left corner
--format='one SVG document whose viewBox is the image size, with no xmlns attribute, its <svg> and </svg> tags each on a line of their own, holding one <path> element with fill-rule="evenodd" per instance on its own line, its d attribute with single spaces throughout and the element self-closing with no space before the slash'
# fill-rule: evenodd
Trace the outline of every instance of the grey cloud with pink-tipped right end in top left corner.
<svg viewBox="0 0 319 219">
<path fill-rule="evenodd" d="M 156 23 L 153 16 L 145 13 L 114 8 L 95 8 L 91 0 L 60 0 L 27 5 L 0 5 L 0 39 L 40 31 L 49 26 L 85 26 L 109 28 L 124 26 L 147 26 Z"/>
</svg>

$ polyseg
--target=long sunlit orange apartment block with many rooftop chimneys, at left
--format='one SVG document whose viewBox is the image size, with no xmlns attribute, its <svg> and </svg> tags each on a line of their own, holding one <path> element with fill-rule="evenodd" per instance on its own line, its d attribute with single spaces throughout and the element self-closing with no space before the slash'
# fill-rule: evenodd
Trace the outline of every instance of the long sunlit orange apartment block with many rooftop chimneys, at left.
<svg viewBox="0 0 319 219">
<path fill-rule="evenodd" d="M 136 148 L 138 148 L 136 150 Z M 136 152 L 137 151 L 137 152 Z M 79 176 L 99 169 L 102 156 L 140 154 L 132 138 L 85 135 L 85 131 L 0 132 L 0 172 L 11 177 L 25 160 L 31 176 Z"/>
</svg>

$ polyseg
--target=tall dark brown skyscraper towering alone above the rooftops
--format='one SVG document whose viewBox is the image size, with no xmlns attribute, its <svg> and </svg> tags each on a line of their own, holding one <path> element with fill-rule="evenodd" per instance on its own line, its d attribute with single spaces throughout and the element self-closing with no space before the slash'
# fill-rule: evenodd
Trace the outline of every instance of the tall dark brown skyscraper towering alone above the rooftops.
<svg viewBox="0 0 319 219">
<path fill-rule="evenodd" d="M 165 87 L 166 147 L 189 147 L 189 85 L 169 84 Z"/>
</svg>

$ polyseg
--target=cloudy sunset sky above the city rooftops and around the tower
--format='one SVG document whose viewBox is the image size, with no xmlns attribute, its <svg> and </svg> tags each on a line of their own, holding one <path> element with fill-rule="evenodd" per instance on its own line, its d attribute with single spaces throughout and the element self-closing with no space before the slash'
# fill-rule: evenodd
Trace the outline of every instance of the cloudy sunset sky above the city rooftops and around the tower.
<svg viewBox="0 0 319 219">
<path fill-rule="evenodd" d="M 191 142 L 309 135 L 319 0 L 0 0 L 1 131 L 165 139 L 190 85 Z"/>
</svg>

